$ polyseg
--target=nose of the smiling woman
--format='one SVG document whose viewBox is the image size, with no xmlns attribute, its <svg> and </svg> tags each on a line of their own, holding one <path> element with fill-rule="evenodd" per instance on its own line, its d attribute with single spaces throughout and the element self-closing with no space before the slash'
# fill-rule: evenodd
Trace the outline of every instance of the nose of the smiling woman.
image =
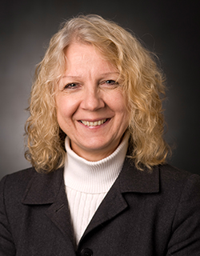
<svg viewBox="0 0 200 256">
<path fill-rule="evenodd" d="M 84 90 L 81 106 L 84 110 L 95 111 L 105 106 L 102 93 L 98 88 L 87 88 Z"/>
</svg>

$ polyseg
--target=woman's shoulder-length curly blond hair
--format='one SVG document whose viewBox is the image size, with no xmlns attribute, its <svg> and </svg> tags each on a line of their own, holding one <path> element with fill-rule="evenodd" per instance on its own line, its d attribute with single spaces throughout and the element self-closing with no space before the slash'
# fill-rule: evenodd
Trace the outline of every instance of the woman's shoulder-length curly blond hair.
<svg viewBox="0 0 200 256">
<path fill-rule="evenodd" d="M 130 110 L 130 155 L 138 169 L 166 162 L 170 148 L 163 139 L 165 85 L 155 55 L 132 33 L 94 14 L 62 24 L 38 64 L 26 121 L 26 159 L 38 171 L 50 172 L 64 165 L 66 134 L 58 126 L 54 95 L 65 72 L 66 48 L 74 40 L 97 47 L 119 71 Z"/>
</svg>

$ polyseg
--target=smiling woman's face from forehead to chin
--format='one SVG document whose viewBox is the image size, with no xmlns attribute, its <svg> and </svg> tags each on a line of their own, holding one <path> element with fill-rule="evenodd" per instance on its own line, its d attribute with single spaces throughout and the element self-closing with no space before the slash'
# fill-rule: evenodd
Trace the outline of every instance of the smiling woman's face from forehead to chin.
<svg viewBox="0 0 200 256">
<path fill-rule="evenodd" d="M 68 47 L 66 59 L 55 96 L 58 124 L 76 154 L 98 161 L 114 152 L 128 127 L 118 70 L 94 46 L 79 42 Z"/>
</svg>

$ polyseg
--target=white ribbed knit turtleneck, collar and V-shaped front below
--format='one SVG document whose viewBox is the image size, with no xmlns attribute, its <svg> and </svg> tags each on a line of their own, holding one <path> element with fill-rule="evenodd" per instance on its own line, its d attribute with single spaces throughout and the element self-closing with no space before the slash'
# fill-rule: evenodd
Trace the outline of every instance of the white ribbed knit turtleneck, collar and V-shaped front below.
<svg viewBox="0 0 200 256">
<path fill-rule="evenodd" d="M 70 139 L 66 137 L 64 179 L 77 244 L 122 170 L 129 137 L 129 132 L 126 132 L 114 153 L 97 162 L 89 162 L 75 154 L 70 149 Z"/>
</svg>

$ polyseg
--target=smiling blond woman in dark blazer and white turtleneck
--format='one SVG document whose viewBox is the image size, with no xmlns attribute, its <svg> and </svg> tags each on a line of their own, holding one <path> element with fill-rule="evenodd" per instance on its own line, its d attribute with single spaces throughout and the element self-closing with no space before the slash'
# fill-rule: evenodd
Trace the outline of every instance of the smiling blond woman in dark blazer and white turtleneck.
<svg viewBox="0 0 200 256">
<path fill-rule="evenodd" d="M 67 21 L 38 65 L 32 168 L 1 182 L 1 255 L 199 255 L 200 178 L 166 164 L 162 72 L 97 15 Z"/>
</svg>

